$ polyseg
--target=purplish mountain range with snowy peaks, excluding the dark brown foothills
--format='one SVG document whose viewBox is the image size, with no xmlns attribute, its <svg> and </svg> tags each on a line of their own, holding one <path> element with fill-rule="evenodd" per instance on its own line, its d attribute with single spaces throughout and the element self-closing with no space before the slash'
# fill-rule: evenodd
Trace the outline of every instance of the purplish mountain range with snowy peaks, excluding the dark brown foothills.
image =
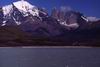
<svg viewBox="0 0 100 67">
<path fill-rule="evenodd" d="M 91 20 L 90 17 L 86 17 L 70 7 L 54 8 L 49 15 L 46 9 L 31 5 L 27 1 L 13 2 L 0 8 L 1 26 L 18 26 L 21 30 L 46 36 L 91 28 L 90 22 L 95 23 L 98 20 L 96 18 Z"/>
</svg>

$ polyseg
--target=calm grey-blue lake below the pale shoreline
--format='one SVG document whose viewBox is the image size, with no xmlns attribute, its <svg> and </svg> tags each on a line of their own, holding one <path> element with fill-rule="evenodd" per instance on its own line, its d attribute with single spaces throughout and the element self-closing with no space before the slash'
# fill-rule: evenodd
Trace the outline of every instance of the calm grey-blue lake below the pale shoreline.
<svg viewBox="0 0 100 67">
<path fill-rule="evenodd" d="M 0 48 L 0 67 L 100 67 L 100 49 Z"/>
</svg>

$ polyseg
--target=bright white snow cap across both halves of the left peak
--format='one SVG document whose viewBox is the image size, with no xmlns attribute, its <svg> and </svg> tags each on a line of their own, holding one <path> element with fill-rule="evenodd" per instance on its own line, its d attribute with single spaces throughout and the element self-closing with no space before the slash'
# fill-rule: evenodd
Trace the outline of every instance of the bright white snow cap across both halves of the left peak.
<svg viewBox="0 0 100 67">
<path fill-rule="evenodd" d="M 3 7 L 4 15 L 13 11 L 13 6 L 15 6 L 23 14 L 26 14 L 27 12 L 29 12 L 30 14 L 37 16 L 39 13 L 38 8 L 31 5 L 27 1 L 17 1 Z"/>
</svg>

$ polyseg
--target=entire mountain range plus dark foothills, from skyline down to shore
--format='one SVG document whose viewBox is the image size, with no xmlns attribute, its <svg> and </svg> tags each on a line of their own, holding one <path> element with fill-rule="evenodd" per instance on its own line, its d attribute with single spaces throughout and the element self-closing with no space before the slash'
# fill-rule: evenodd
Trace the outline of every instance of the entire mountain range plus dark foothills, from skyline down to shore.
<svg viewBox="0 0 100 67">
<path fill-rule="evenodd" d="M 54 45 L 76 45 L 80 41 L 87 43 L 93 39 L 95 44 L 100 40 L 100 20 L 95 19 L 90 20 L 69 7 L 54 8 L 49 15 L 44 8 L 27 1 L 17 1 L 0 8 L 0 37 L 3 35 L 0 42 L 34 44 L 36 38 L 36 42 L 43 40 L 43 44 L 47 44 L 47 41 L 50 44 L 56 42 Z"/>
</svg>

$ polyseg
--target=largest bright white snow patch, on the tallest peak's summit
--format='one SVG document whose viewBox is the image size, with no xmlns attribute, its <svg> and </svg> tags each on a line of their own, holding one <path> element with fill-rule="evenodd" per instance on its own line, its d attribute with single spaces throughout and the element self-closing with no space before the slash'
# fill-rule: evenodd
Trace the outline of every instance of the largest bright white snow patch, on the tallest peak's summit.
<svg viewBox="0 0 100 67">
<path fill-rule="evenodd" d="M 38 8 L 31 5 L 27 1 L 17 1 L 17 2 L 14 2 L 13 4 L 23 14 L 26 14 L 27 12 L 29 12 L 33 16 L 38 16 L 39 15 Z"/>
</svg>

